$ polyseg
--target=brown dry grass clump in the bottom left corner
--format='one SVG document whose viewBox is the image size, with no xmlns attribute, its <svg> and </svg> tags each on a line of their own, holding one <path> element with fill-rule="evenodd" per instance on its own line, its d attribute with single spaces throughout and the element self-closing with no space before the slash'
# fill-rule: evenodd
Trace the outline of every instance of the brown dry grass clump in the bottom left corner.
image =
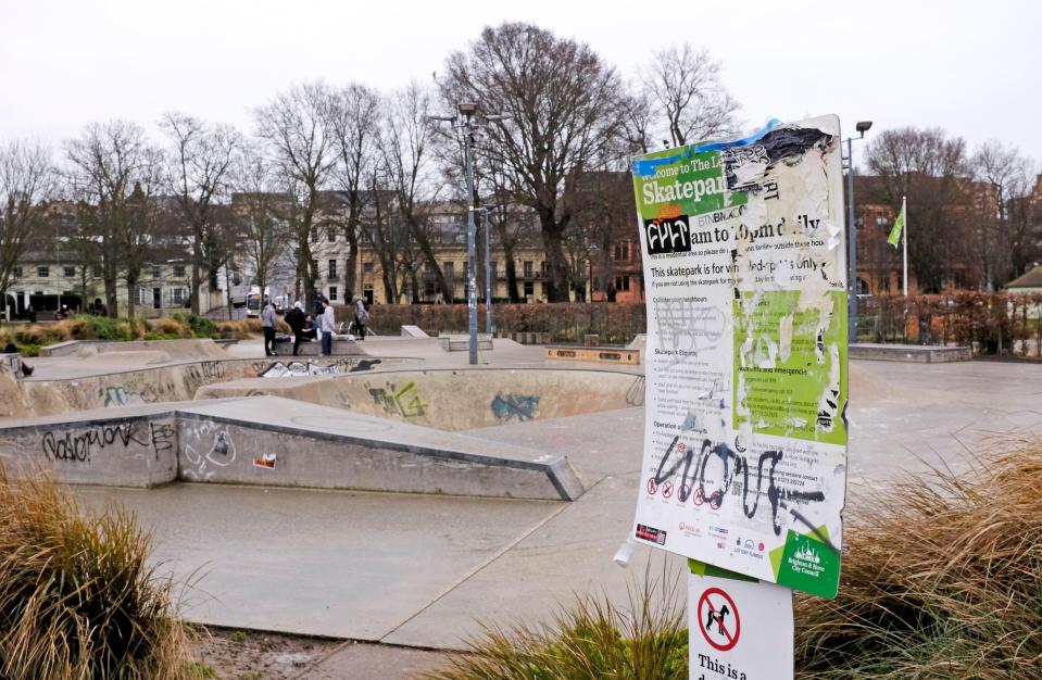
<svg viewBox="0 0 1042 680">
<path fill-rule="evenodd" d="M 49 477 L 0 468 L 0 677 L 200 677 L 149 552 L 133 515 L 81 513 Z"/>
</svg>

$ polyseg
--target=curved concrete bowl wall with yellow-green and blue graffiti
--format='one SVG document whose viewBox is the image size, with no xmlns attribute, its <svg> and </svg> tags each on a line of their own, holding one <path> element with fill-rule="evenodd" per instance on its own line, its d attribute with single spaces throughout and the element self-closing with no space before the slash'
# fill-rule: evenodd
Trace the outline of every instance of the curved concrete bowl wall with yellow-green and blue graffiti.
<svg viewBox="0 0 1042 680">
<path fill-rule="evenodd" d="M 272 394 L 465 430 L 614 411 L 644 403 L 642 375 L 575 369 L 382 370 L 373 374 L 233 380 L 201 388 L 197 399 Z"/>
</svg>

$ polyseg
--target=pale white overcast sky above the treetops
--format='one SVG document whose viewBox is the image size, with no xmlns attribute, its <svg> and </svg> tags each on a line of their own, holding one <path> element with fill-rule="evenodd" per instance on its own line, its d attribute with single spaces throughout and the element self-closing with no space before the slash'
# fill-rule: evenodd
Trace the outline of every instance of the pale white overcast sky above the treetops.
<svg viewBox="0 0 1042 680">
<path fill-rule="evenodd" d="M 746 128 L 837 113 L 846 134 L 941 126 L 1042 161 L 1042 2 L 919 0 L 0 0 L 0 141 L 87 123 L 154 129 L 178 110 L 252 130 L 296 81 L 390 90 L 429 80 L 480 29 L 526 21 L 589 43 L 626 76 L 690 41 L 723 63 Z M 859 151 L 855 149 L 855 156 Z"/>
</svg>

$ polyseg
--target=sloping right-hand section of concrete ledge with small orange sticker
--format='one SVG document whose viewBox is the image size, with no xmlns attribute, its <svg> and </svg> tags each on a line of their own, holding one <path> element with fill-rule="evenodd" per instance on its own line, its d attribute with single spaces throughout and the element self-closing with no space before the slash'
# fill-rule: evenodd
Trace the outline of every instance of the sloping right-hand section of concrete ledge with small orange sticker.
<svg viewBox="0 0 1042 680">
<path fill-rule="evenodd" d="M 573 501 L 557 455 L 276 396 L 179 412 L 181 479 Z M 271 418 L 271 419 L 268 419 Z"/>
</svg>

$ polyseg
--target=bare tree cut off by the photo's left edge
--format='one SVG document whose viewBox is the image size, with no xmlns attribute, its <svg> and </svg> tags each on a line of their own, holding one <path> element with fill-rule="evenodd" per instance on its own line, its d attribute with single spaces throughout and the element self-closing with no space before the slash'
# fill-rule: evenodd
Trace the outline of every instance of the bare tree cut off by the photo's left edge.
<svg viewBox="0 0 1042 680">
<path fill-rule="evenodd" d="M 50 149 L 22 141 L 0 148 L 0 310 L 8 305 L 14 267 L 45 234 L 57 192 Z"/>
</svg>

